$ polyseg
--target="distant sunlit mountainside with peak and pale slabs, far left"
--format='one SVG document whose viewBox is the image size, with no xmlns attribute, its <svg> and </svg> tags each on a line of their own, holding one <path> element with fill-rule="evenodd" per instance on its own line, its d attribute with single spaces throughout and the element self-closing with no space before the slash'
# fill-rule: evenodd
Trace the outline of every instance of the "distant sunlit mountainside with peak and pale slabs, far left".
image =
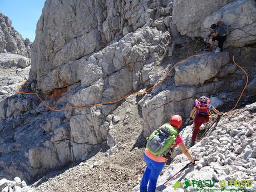
<svg viewBox="0 0 256 192">
<path fill-rule="evenodd" d="M 18 83 L 28 78 L 31 45 L 0 12 L 0 101 L 12 96 Z"/>
</svg>

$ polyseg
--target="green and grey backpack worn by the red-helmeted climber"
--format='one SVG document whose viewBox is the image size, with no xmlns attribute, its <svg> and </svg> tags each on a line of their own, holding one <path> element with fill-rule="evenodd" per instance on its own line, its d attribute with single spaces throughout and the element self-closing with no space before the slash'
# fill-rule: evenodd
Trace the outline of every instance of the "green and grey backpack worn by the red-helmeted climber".
<svg viewBox="0 0 256 192">
<path fill-rule="evenodd" d="M 146 148 L 156 156 L 166 155 L 175 142 L 177 135 L 178 130 L 166 123 L 152 132 L 147 139 Z"/>
</svg>

